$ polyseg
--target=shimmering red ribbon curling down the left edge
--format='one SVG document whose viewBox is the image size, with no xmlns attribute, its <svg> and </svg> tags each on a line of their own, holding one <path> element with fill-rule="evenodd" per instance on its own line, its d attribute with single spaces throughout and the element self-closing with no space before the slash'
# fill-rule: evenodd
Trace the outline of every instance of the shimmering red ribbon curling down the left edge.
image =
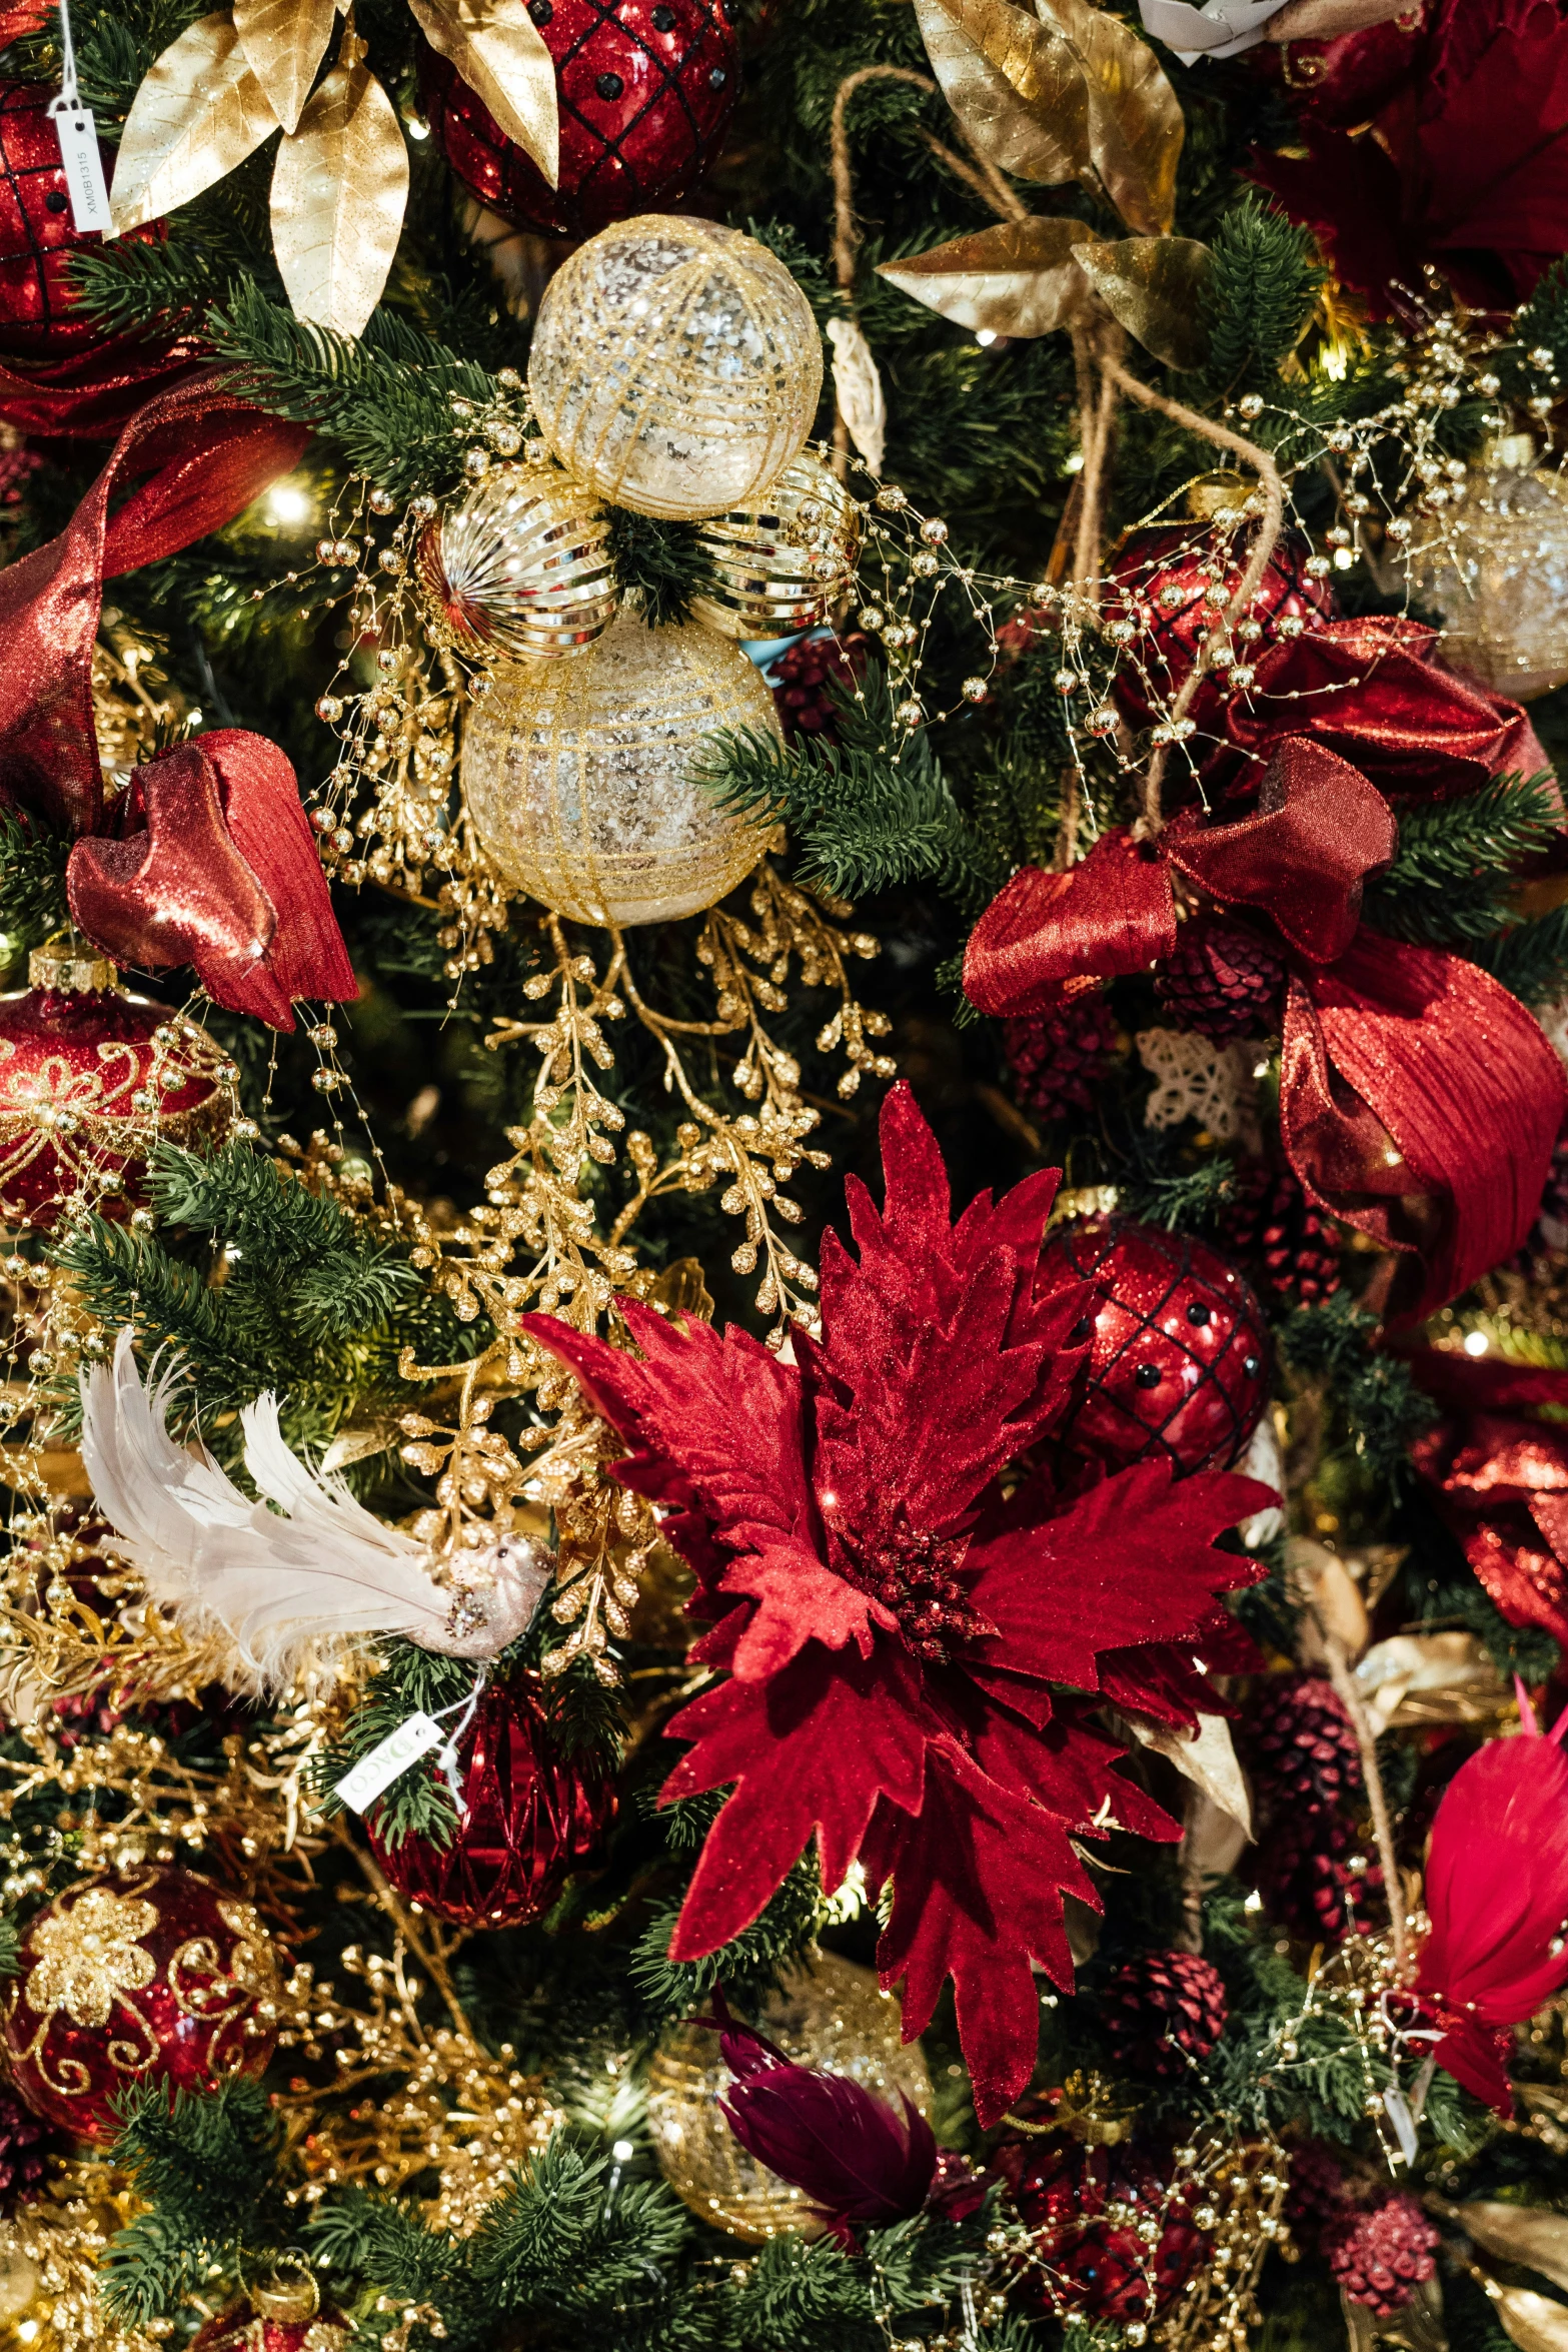
<svg viewBox="0 0 1568 2352">
<path fill-rule="evenodd" d="M 190 962 L 219 1004 L 294 1028 L 357 995 L 284 753 L 219 729 L 136 769 L 106 811 L 92 717 L 103 581 L 230 522 L 306 447 L 205 374 L 150 400 L 49 546 L 0 574 L 0 800 L 66 823 L 71 915 L 118 962 Z M 110 494 L 148 475 L 110 515 Z"/>
</svg>

